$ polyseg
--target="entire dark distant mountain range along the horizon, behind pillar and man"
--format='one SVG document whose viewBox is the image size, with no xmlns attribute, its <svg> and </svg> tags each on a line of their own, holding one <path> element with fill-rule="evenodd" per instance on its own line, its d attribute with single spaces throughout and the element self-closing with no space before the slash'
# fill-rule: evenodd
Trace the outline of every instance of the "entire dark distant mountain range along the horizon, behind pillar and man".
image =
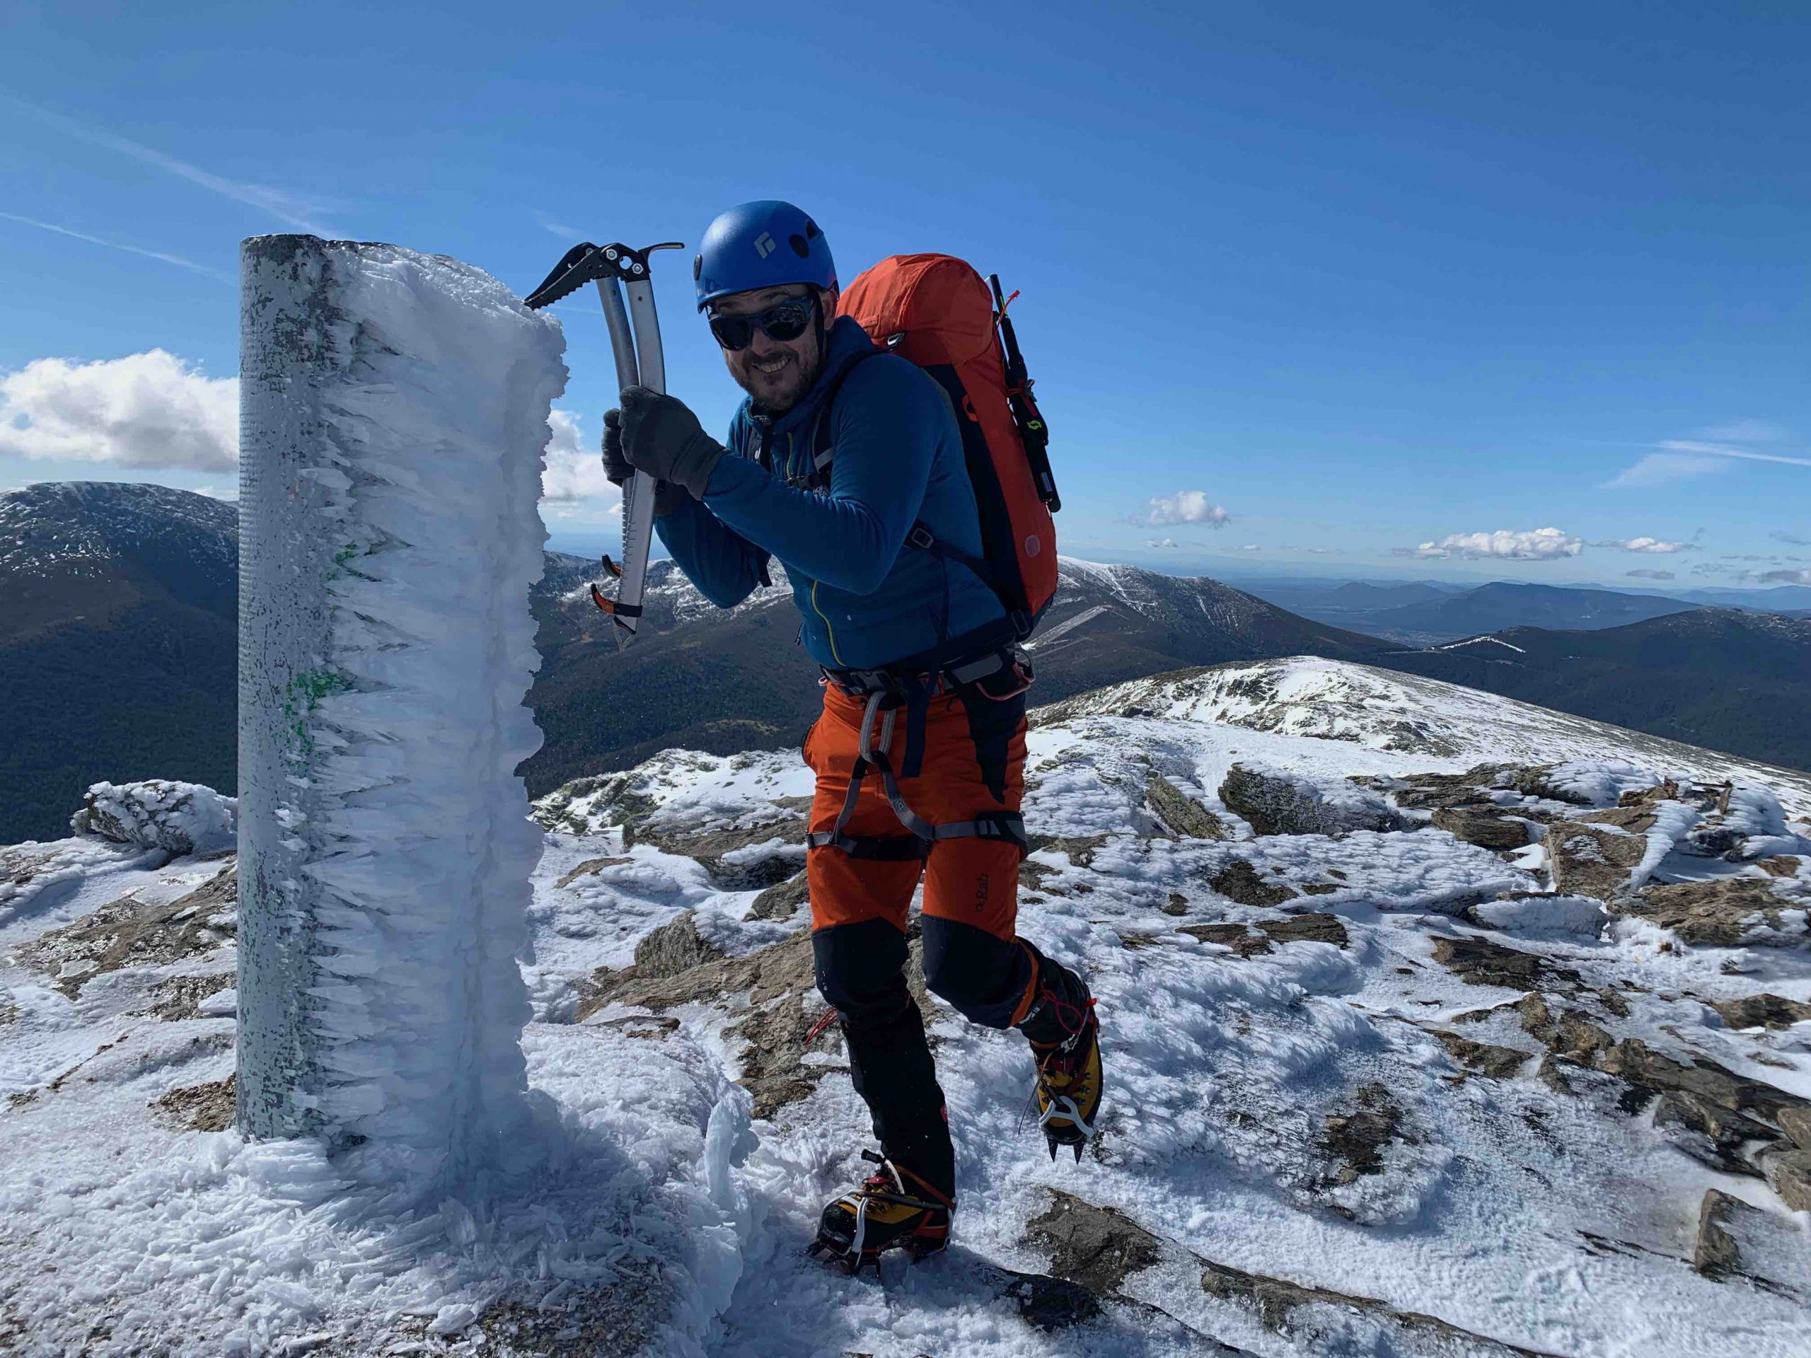
<svg viewBox="0 0 1811 1358">
<path fill-rule="evenodd" d="M 237 563 L 237 511 L 206 496 L 118 482 L 0 494 L 0 842 L 62 835 L 100 779 L 234 791 Z M 782 572 L 726 612 L 672 561 L 652 563 L 643 632 L 625 652 L 587 598 L 594 578 L 592 561 L 551 552 L 531 599 L 543 663 L 529 704 L 545 733 L 522 770 L 532 793 L 668 746 L 784 748 L 817 715 Z M 1371 601 L 1373 588 L 1346 598 Z M 1807 634 L 1811 623 L 1771 614 L 1699 610 L 1416 650 L 1215 579 L 1065 558 L 1030 652 L 1040 703 L 1184 666 L 1318 655 L 1811 768 L 1807 722 L 1778 719 L 1811 710 Z"/>
</svg>

